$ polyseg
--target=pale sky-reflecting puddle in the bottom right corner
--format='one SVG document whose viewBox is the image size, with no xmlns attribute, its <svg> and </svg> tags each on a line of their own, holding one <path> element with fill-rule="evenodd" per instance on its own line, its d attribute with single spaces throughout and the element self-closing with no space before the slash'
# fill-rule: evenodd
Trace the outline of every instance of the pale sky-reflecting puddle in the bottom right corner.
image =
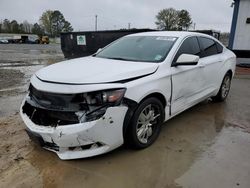
<svg viewBox="0 0 250 188">
<path fill-rule="evenodd" d="M 237 127 L 224 127 L 176 183 L 180 187 L 249 187 L 250 137 Z"/>
</svg>

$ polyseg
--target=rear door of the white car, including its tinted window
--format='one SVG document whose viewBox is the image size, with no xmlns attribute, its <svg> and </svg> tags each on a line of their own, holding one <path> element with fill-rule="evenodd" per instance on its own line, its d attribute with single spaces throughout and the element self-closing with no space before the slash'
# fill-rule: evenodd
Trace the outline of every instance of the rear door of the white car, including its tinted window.
<svg viewBox="0 0 250 188">
<path fill-rule="evenodd" d="M 201 47 L 200 66 L 206 81 L 204 95 L 214 92 L 218 88 L 220 69 L 223 66 L 223 47 L 207 37 L 198 37 Z"/>
</svg>

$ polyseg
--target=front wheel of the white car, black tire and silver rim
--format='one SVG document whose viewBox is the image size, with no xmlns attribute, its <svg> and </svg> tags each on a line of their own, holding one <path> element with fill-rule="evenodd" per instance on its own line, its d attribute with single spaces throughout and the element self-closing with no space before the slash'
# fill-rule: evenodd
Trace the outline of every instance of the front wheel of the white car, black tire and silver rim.
<svg viewBox="0 0 250 188">
<path fill-rule="evenodd" d="M 146 116 L 143 116 L 142 113 L 145 114 L 147 113 L 147 111 L 150 112 L 148 113 L 148 118 L 145 118 L 145 123 L 143 125 L 141 119 L 142 117 Z M 152 111 L 154 113 L 152 113 Z M 130 148 L 133 149 L 144 149 L 150 146 L 159 136 L 159 133 L 161 131 L 161 124 L 164 121 L 164 117 L 165 117 L 164 107 L 158 99 L 156 98 L 145 99 L 134 112 L 134 115 L 128 126 L 125 142 L 128 144 Z M 148 128 L 143 129 L 143 127 L 148 127 Z M 138 136 L 138 134 L 140 133 L 141 135 L 142 134 L 144 135 L 144 138 Z M 149 136 L 150 133 L 151 135 Z M 148 139 L 145 139 L 145 137 L 148 137 Z"/>
</svg>

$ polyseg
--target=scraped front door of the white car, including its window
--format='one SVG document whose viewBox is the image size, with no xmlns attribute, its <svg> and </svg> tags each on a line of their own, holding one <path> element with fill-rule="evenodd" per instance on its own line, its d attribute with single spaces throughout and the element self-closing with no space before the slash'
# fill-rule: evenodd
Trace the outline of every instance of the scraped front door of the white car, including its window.
<svg viewBox="0 0 250 188">
<path fill-rule="evenodd" d="M 200 56 L 200 53 L 201 50 L 197 37 L 188 37 L 179 47 L 173 63 L 177 61 L 181 54 Z M 192 106 L 193 103 L 202 97 L 201 93 L 205 84 L 204 75 L 201 71 L 202 68 L 199 62 L 197 65 L 171 66 L 171 115 L 175 115 Z"/>
</svg>

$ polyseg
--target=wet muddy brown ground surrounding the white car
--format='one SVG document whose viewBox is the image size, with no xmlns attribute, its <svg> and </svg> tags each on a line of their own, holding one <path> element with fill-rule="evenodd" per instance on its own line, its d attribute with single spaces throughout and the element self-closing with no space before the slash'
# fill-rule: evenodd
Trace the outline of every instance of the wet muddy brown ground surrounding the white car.
<svg viewBox="0 0 250 188">
<path fill-rule="evenodd" d="M 57 45 L 0 45 L 0 187 L 250 187 L 249 69 L 226 102 L 168 121 L 150 148 L 61 161 L 29 140 L 18 108 L 30 76 L 62 59 Z"/>
</svg>

